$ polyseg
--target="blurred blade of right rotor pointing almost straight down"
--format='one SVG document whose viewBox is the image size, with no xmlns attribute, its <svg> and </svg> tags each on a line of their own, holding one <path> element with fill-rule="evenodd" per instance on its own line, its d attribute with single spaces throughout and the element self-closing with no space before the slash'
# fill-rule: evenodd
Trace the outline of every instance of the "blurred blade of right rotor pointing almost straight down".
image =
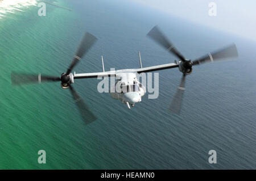
<svg viewBox="0 0 256 181">
<path fill-rule="evenodd" d="M 185 91 L 185 74 L 181 78 L 180 85 L 177 87 L 174 99 L 172 99 L 170 112 L 176 113 L 177 115 L 180 113 L 183 93 Z"/>
</svg>

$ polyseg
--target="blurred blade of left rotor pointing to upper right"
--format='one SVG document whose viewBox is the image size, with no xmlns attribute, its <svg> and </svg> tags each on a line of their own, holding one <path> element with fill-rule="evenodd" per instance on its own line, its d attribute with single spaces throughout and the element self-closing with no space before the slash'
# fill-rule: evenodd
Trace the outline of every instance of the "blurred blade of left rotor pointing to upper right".
<svg viewBox="0 0 256 181">
<path fill-rule="evenodd" d="M 92 34 L 88 32 L 85 33 L 84 37 L 82 37 L 79 47 L 77 48 L 76 54 L 73 57 L 72 63 L 67 70 L 67 74 L 71 73 L 74 66 L 76 66 L 79 60 L 81 60 L 81 58 L 92 47 L 96 40 L 97 38 Z"/>
</svg>

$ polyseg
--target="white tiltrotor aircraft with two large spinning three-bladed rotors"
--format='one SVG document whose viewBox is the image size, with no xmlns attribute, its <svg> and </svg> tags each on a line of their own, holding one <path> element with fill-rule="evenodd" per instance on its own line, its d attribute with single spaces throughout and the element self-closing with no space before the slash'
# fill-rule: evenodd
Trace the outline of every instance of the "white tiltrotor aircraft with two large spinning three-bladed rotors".
<svg viewBox="0 0 256 181">
<path fill-rule="evenodd" d="M 156 43 L 162 45 L 163 48 L 174 54 L 177 58 L 179 58 L 179 60 L 175 60 L 174 63 L 170 64 L 162 64 L 142 68 L 141 56 L 139 54 L 141 68 L 105 71 L 102 58 L 102 72 L 72 74 L 71 71 L 73 70 L 73 68 L 77 65 L 79 61 L 81 61 L 85 53 L 88 52 L 90 47 L 92 47 L 92 45 L 97 40 L 96 37 L 94 37 L 92 34 L 86 32 L 81 40 L 75 56 L 73 57 L 71 65 L 65 73 L 62 73 L 60 75 L 60 77 L 41 75 L 40 73 L 33 75 L 12 72 L 12 84 L 22 85 L 24 83 L 60 82 L 60 85 L 63 89 L 69 89 L 71 91 L 73 99 L 75 100 L 75 103 L 79 108 L 82 118 L 84 119 L 85 123 L 88 124 L 96 120 L 96 116 L 93 115 L 93 113 L 89 110 L 88 106 L 86 106 L 85 102 L 82 101 L 79 94 L 77 94 L 77 92 L 73 88 L 72 83 L 74 83 L 75 79 L 115 76 L 116 83 L 120 83 L 119 85 L 121 85 L 121 91 L 111 92 L 110 94 L 112 98 L 121 100 L 122 103 L 127 104 L 128 108 L 130 108 L 130 105 L 134 107 L 135 103 L 141 102 L 142 96 L 146 93 L 145 87 L 141 84 L 141 82 L 139 82 L 139 74 L 147 73 L 150 71 L 179 68 L 179 70 L 183 74 L 183 77 L 181 78 L 180 85 L 179 87 L 177 87 L 176 94 L 170 106 L 171 112 L 179 114 L 181 108 L 181 100 L 183 97 L 183 92 L 185 90 L 185 77 L 186 75 L 191 74 L 192 66 L 200 65 L 205 62 L 213 62 L 223 58 L 238 56 L 236 45 L 232 44 L 224 49 L 218 50 L 217 52 L 208 53 L 201 58 L 197 58 L 196 60 L 187 60 L 174 47 L 174 45 L 170 41 L 168 41 L 166 36 L 163 35 L 163 33 L 159 30 L 157 26 L 152 28 L 152 30 L 148 32 L 147 36 L 150 37 L 152 40 L 155 40 Z"/>
</svg>

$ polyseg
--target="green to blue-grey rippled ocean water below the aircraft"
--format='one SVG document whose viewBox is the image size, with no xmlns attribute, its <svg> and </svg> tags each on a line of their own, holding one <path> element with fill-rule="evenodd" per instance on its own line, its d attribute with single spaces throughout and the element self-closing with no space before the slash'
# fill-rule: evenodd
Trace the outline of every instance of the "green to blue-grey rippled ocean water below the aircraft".
<svg viewBox="0 0 256 181">
<path fill-rule="evenodd" d="M 49 0 L 48 0 L 49 1 Z M 57 1 L 73 11 L 20 7 L 0 19 L 0 169 L 256 169 L 255 46 L 129 1 Z M 74 87 L 98 119 L 85 126 L 59 83 L 12 87 L 11 71 L 60 75 L 82 33 L 98 38 L 76 73 L 174 62 L 146 37 L 156 24 L 186 58 L 236 43 L 239 58 L 195 66 L 186 80 L 179 116 L 168 106 L 179 85 L 177 69 L 159 72 L 159 97 L 128 110 L 97 92 L 97 79 Z M 38 163 L 46 150 L 47 163 Z M 208 151 L 217 151 L 217 163 Z"/>
</svg>

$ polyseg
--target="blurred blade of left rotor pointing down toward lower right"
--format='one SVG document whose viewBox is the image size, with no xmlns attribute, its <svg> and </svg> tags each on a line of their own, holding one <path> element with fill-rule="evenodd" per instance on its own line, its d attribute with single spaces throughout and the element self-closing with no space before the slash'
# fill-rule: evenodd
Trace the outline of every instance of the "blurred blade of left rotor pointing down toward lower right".
<svg viewBox="0 0 256 181">
<path fill-rule="evenodd" d="M 92 112 L 89 111 L 88 106 L 81 99 L 79 94 L 77 94 L 76 90 L 73 89 L 71 85 L 69 85 L 69 89 L 71 90 L 73 99 L 75 100 L 76 106 L 79 109 L 79 112 L 81 113 L 82 119 L 84 119 L 85 124 L 89 124 L 95 121 L 97 118 L 93 115 Z"/>
</svg>

